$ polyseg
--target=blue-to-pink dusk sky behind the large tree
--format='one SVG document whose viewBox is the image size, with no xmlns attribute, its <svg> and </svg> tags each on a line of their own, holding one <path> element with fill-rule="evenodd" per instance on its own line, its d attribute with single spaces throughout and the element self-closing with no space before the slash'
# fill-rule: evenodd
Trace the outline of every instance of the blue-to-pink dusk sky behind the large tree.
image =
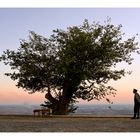
<svg viewBox="0 0 140 140">
<path fill-rule="evenodd" d="M 124 38 L 138 33 L 136 40 L 140 44 L 140 8 L 0 8 L 0 55 L 6 49 L 18 49 L 20 40 L 28 38 L 29 30 L 49 37 L 53 29 L 66 30 L 69 26 L 81 25 L 84 19 L 102 24 L 107 17 L 114 25 L 122 24 Z M 140 55 L 133 54 L 133 58 L 132 65 L 119 66 L 132 74 L 109 83 L 117 89 L 116 97 L 109 97 L 114 104 L 132 104 L 133 88 L 140 92 Z M 9 71 L 10 67 L 0 62 L 0 104 L 41 104 L 45 101 L 43 93 L 28 94 L 28 91 L 18 89 L 16 82 L 4 75 Z M 90 103 L 106 102 L 103 99 Z"/>
</svg>

